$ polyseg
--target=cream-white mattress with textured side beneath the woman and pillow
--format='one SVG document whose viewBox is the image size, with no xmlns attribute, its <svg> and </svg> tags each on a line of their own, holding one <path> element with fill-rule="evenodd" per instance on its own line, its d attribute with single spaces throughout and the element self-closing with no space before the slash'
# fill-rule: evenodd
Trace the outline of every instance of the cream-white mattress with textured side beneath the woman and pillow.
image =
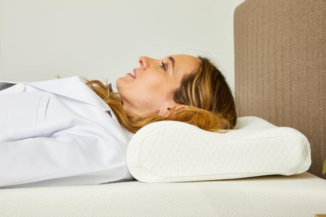
<svg viewBox="0 0 326 217">
<path fill-rule="evenodd" d="M 308 172 L 232 180 L 0 190 L 3 216 L 314 216 L 326 180 Z"/>
</svg>

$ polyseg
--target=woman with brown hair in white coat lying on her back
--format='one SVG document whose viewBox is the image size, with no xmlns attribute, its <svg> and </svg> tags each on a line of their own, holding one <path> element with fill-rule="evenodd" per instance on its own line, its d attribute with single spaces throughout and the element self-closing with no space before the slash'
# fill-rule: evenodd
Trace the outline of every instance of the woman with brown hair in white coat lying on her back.
<svg viewBox="0 0 326 217">
<path fill-rule="evenodd" d="M 132 179 L 126 148 L 148 123 L 177 120 L 208 131 L 235 126 L 230 88 L 208 59 L 141 57 L 139 64 L 117 80 L 118 92 L 78 77 L 0 82 L 0 186 Z"/>
</svg>

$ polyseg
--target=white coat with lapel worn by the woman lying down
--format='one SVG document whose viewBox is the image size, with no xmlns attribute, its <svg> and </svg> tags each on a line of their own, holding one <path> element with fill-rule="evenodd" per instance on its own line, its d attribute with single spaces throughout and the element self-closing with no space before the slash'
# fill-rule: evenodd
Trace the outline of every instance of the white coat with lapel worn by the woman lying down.
<svg viewBox="0 0 326 217">
<path fill-rule="evenodd" d="M 132 135 L 77 76 L 0 81 L 0 186 L 131 180 L 126 149 Z"/>
</svg>

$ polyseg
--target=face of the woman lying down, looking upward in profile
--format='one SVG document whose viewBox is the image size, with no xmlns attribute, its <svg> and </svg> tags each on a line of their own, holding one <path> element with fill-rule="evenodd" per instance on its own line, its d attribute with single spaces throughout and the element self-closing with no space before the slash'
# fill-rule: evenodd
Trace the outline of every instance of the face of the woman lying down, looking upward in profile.
<svg viewBox="0 0 326 217">
<path fill-rule="evenodd" d="M 164 114 L 182 106 L 173 101 L 173 91 L 184 76 L 194 73 L 201 60 L 189 55 L 170 55 L 163 59 L 139 58 L 140 67 L 117 80 L 123 108 L 137 115 Z"/>
</svg>

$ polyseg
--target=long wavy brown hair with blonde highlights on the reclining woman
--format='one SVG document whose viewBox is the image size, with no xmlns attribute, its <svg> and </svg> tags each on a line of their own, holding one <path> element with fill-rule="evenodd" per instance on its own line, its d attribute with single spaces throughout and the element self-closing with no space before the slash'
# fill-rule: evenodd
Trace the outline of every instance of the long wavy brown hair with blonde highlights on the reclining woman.
<svg viewBox="0 0 326 217">
<path fill-rule="evenodd" d="M 226 132 L 236 125 L 235 101 L 224 75 L 212 62 L 198 56 L 201 63 L 195 73 L 183 77 L 179 88 L 172 90 L 173 100 L 186 107 L 171 109 L 168 115 L 139 116 L 126 112 L 117 92 L 110 92 L 109 85 L 98 80 L 86 84 L 113 110 L 120 124 L 135 133 L 149 123 L 176 120 L 212 132 Z"/>
</svg>

